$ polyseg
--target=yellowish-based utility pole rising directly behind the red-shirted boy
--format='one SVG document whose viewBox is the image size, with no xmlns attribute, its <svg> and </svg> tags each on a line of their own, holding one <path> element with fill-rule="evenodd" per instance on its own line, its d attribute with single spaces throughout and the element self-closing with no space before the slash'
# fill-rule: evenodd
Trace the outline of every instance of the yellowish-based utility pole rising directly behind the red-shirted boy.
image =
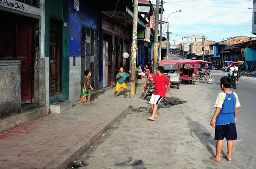
<svg viewBox="0 0 256 169">
<path fill-rule="evenodd" d="M 153 55 L 153 74 L 157 73 L 158 56 L 158 25 L 159 25 L 159 0 L 156 0 L 155 32 L 154 32 L 154 55 Z"/>
</svg>

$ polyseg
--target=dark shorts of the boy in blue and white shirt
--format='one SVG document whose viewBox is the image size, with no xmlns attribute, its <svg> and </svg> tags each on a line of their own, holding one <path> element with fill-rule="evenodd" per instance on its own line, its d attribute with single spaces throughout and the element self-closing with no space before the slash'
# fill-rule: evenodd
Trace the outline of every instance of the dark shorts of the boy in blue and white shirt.
<svg viewBox="0 0 256 169">
<path fill-rule="evenodd" d="M 227 140 L 236 140 L 236 124 L 230 123 L 227 125 L 216 125 L 215 126 L 215 140 L 224 140 L 226 137 Z"/>
</svg>

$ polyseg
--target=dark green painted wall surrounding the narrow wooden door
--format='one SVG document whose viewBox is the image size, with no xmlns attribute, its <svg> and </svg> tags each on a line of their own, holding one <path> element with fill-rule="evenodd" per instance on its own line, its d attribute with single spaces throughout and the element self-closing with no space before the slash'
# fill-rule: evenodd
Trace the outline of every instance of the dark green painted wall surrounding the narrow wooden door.
<svg viewBox="0 0 256 169">
<path fill-rule="evenodd" d="M 50 97 L 49 104 L 60 99 L 69 99 L 69 23 L 68 0 L 45 0 L 45 57 L 49 57 L 50 19 L 62 22 L 62 56 L 60 56 L 60 94 Z"/>
</svg>

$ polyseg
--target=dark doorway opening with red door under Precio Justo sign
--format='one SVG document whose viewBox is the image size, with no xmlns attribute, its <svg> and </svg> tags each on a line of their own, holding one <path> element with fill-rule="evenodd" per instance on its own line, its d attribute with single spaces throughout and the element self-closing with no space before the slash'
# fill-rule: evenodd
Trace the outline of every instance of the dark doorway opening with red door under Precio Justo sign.
<svg viewBox="0 0 256 169">
<path fill-rule="evenodd" d="M 0 58 L 21 59 L 21 103 L 34 98 L 35 19 L 0 11 Z M 11 21 L 11 22 L 10 22 Z"/>
</svg>

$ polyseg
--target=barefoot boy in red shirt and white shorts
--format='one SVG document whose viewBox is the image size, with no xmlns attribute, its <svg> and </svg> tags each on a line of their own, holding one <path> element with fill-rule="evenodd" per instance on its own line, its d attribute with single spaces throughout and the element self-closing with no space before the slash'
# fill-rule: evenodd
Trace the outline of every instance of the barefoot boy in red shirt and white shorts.
<svg viewBox="0 0 256 169">
<path fill-rule="evenodd" d="M 149 101 L 150 107 L 153 111 L 152 115 L 148 117 L 148 120 L 151 121 L 154 121 L 155 117 L 157 117 L 157 106 L 166 94 L 166 86 L 168 86 L 169 93 L 172 94 L 169 79 L 163 73 L 163 66 L 158 66 L 157 74 L 148 79 L 148 81 L 155 82 L 155 90 Z"/>
</svg>

